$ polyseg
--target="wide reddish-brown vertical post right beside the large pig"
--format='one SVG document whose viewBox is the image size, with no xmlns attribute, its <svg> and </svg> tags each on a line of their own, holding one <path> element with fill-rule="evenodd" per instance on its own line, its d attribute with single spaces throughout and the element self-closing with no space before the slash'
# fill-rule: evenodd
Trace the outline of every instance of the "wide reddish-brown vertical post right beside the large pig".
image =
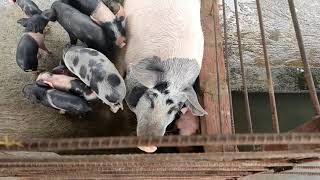
<svg viewBox="0 0 320 180">
<path fill-rule="evenodd" d="M 203 105 L 208 112 L 207 116 L 201 118 L 201 131 L 202 134 L 231 134 L 230 101 L 216 0 L 202 1 L 201 16 L 205 42 L 199 80 Z M 205 147 L 206 152 L 223 150 L 234 148 Z"/>
</svg>

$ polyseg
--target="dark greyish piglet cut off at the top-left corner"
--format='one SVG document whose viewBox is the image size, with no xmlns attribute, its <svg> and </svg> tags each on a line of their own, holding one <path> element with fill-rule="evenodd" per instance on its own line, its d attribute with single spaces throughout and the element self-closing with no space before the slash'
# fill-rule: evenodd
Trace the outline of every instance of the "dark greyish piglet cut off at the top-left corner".
<svg viewBox="0 0 320 180">
<path fill-rule="evenodd" d="M 28 17 L 31 17 L 35 14 L 42 13 L 42 11 L 39 9 L 36 3 L 34 3 L 31 0 L 10 0 L 10 1 L 17 4 Z"/>
</svg>

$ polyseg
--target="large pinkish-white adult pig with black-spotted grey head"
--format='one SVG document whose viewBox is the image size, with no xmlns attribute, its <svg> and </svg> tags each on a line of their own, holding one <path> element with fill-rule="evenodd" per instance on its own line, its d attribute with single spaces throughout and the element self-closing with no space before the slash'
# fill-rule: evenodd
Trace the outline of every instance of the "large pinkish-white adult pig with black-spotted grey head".
<svg viewBox="0 0 320 180">
<path fill-rule="evenodd" d="M 163 136 L 185 104 L 207 114 L 193 84 L 203 57 L 200 0 L 126 0 L 126 102 L 138 136 Z M 153 151 L 153 150 L 151 150 Z"/>
</svg>

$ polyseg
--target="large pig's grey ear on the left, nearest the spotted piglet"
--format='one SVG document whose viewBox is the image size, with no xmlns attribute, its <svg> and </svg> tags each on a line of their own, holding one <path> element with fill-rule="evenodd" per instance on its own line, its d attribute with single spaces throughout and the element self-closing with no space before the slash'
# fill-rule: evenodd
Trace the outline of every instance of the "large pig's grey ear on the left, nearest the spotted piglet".
<svg viewBox="0 0 320 180">
<path fill-rule="evenodd" d="M 158 57 L 147 58 L 130 68 L 134 78 L 147 88 L 153 88 L 164 78 L 164 69 Z"/>
</svg>

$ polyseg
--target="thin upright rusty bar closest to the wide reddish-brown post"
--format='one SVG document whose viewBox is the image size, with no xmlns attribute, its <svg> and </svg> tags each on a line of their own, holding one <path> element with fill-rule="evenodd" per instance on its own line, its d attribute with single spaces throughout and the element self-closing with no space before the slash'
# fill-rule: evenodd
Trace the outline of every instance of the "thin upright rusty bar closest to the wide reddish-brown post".
<svg viewBox="0 0 320 180">
<path fill-rule="evenodd" d="M 223 6 L 223 27 L 224 27 L 224 59 L 226 60 L 226 73 L 227 73 L 227 84 L 228 84 L 228 92 L 229 92 L 229 101 L 230 101 L 230 117 L 231 117 L 231 128 L 232 133 L 236 133 L 235 123 L 234 123 L 234 115 L 233 115 L 233 105 L 232 105 L 232 91 L 230 85 L 230 66 L 229 66 L 229 58 L 228 58 L 228 34 L 227 34 L 227 16 L 226 16 L 226 3 L 225 0 L 222 1 Z"/>
</svg>

